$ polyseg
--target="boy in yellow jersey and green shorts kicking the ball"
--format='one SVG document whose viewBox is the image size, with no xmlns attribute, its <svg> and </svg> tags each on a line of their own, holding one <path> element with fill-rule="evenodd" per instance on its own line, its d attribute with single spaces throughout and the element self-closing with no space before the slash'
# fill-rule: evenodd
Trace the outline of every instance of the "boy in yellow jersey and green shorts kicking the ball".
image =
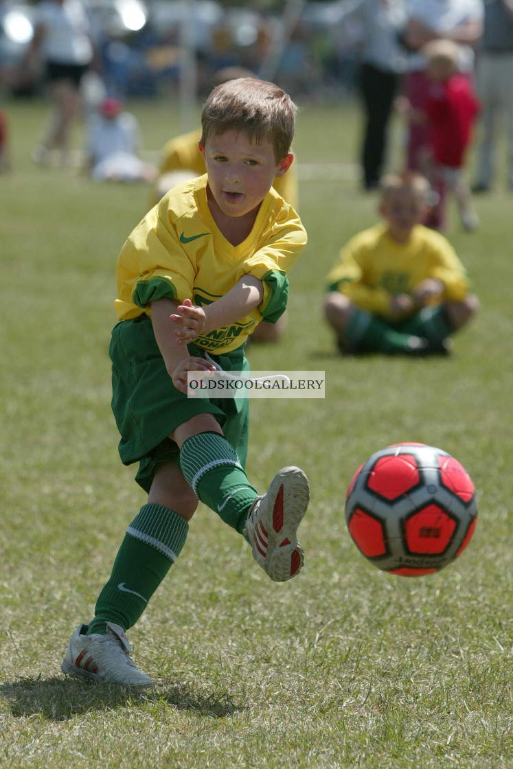
<svg viewBox="0 0 513 769">
<path fill-rule="evenodd" d="M 305 474 L 284 468 L 258 496 L 244 469 L 248 401 L 187 397 L 188 371 L 246 371 L 248 335 L 285 309 L 306 233 L 271 185 L 291 165 L 294 128 L 295 105 L 276 85 L 219 85 L 202 110 L 206 175 L 172 188 L 119 255 L 112 408 L 122 461 L 139 463 L 148 502 L 128 526 L 94 619 L 72 635 L 67 674 L 152 683 L 125 631 L 178 558 L 198 500 L 248 539 L 272 580 L 301 569 Z"/>
</svg>

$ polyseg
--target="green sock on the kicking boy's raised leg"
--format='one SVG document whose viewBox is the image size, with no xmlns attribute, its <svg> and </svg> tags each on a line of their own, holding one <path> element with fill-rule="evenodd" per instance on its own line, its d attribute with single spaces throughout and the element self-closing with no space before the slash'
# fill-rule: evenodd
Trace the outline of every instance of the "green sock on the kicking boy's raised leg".
<svg viewBox="0 0 513 769">
<path fill-rule="evenodd" d="M 215 432 L 187 438 L 180 451 L 180 467 L 196 496 L 242 534 L 257 492 L 226 438 Z"/>
</svg>

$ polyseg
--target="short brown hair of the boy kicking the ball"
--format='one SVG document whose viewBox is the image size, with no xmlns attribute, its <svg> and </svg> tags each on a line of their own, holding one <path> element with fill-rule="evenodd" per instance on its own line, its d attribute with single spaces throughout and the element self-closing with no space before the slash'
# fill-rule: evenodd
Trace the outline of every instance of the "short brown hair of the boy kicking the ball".
<svg viewBox="0 0 513 769">
<path fill-rule="evenodd" d="M 225 131 L 245 131 L 261 144 L 270 141 L 277 163 L 290 150 L 297 108 L 278 85 L 258 78 L 238 78 L 218 85 L 202 109 L 202 145 Z"/>
</svg>

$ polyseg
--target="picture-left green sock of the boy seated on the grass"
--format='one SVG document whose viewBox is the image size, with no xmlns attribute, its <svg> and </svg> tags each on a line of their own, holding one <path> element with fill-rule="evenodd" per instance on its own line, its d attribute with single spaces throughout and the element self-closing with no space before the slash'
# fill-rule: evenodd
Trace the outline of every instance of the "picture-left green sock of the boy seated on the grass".
<svg viewBox="0 0 513 769">
<path fill-rule="evenodd" d="M 355 351 L 379 351 L 387 355 L 406 352 L 411 343 L 411 334 L 395 331 L 386 321 L 358 308 L 349 318 L 344 335 Z"/>
</svg>

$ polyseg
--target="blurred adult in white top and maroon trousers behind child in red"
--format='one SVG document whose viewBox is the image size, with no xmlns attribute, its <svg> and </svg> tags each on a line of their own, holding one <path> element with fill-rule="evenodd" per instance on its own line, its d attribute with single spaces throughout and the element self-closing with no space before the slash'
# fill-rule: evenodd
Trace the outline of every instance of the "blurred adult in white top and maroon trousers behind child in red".
<svg viewBox="0 0 513 769">
<path fill-rule="evenodd" d="M 460 71 L 472 78 L 474 50 L 482 34 L 482 0 L 410 0 L 408 22 L 402 39 L 411 52 L 405 78 L 405 96 L 415 110 L 423 110 L 428 92 L 423 45 L 446 38 L 460 45 Z M 419 122 L 408 125 L 407 168 L 421 171 L 423 155 L 429 148 L 430 128 Z M 433 221 L 434 226 L 438 222 Z"/>
</svg>

